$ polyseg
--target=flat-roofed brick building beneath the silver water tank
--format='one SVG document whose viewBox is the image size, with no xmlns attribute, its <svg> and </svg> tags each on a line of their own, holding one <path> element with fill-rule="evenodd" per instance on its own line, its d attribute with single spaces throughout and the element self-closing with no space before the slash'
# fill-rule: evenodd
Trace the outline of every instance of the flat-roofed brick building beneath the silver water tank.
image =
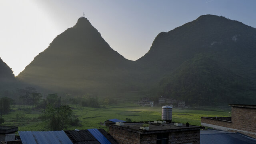
<svg viewBox="0 0 256 144">
<path fill-rule="evenodd" d="M 146 122 L 125 122 L 123 126 L 108 124 L 108 132 L 119 144 L 199 144 L 203 127 L 174 122 L 154 124 L 147 122 L 149 130 L 141 130 Z"/>
</svg>

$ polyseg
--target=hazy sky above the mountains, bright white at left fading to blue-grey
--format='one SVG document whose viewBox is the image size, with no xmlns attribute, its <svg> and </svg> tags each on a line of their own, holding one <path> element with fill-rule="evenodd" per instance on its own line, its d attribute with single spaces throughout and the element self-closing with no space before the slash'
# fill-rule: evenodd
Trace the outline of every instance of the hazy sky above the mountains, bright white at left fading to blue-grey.
<svg viewBox="0 0 256 144">
<path fill-rule="evenodd" d="M 256 0 L 0 0 L 0 58 L 17 76 L 83 16 L 129 60 L 168 32 L 204 14 L 256 28 Z"/>
</svg>

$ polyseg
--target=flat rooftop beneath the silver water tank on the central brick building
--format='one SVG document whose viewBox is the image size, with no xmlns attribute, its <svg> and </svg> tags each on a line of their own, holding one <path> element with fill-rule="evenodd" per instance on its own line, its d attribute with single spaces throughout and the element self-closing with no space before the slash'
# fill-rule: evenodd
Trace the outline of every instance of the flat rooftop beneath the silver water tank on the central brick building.
<svg viewBox="0 0 256 144">
<path fill-rule="evenodd" d="M 143 124 L 149 124 L 149 130 L 141 130 Z M 174 122 L 166 122 L 166 124 L 155 124 L 154 122 L 124 122 L 124 126 L 118 126 L 115 123 L 110 123 L 108 126 L 113 128 L 122 128 L 127 131 L 138 132 L 140 134 L 154 134 L 163 132 L 179 132 L 187 130 L 200 130 L 204 127 L 182 124 L 182 126 L 174 126 Z"/>
</svg>

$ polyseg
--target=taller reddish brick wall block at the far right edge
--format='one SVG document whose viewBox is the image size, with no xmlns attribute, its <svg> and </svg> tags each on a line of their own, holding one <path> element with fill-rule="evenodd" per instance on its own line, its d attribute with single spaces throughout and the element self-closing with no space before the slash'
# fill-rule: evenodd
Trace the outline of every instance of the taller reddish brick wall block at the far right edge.
<svg viewBox="0 0 256 144">
<path fill-rule="evenodd" d="M 256 109 L 232 107 L 233 128 L 256 132 Z"/>
</svg>

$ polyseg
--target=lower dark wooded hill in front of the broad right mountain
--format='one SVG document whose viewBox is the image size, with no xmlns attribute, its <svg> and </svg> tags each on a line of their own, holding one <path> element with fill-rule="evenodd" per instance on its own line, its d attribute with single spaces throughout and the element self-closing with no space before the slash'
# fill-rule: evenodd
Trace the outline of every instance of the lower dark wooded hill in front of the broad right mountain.
<svg viewBox="0 0 256 144">
<path fill-rule="evenodd" d="M 255 86 L 205 54 L 185 61 L 160 82 L 161 95 L 190 105 L 253 104 Z"/>
</svg>

